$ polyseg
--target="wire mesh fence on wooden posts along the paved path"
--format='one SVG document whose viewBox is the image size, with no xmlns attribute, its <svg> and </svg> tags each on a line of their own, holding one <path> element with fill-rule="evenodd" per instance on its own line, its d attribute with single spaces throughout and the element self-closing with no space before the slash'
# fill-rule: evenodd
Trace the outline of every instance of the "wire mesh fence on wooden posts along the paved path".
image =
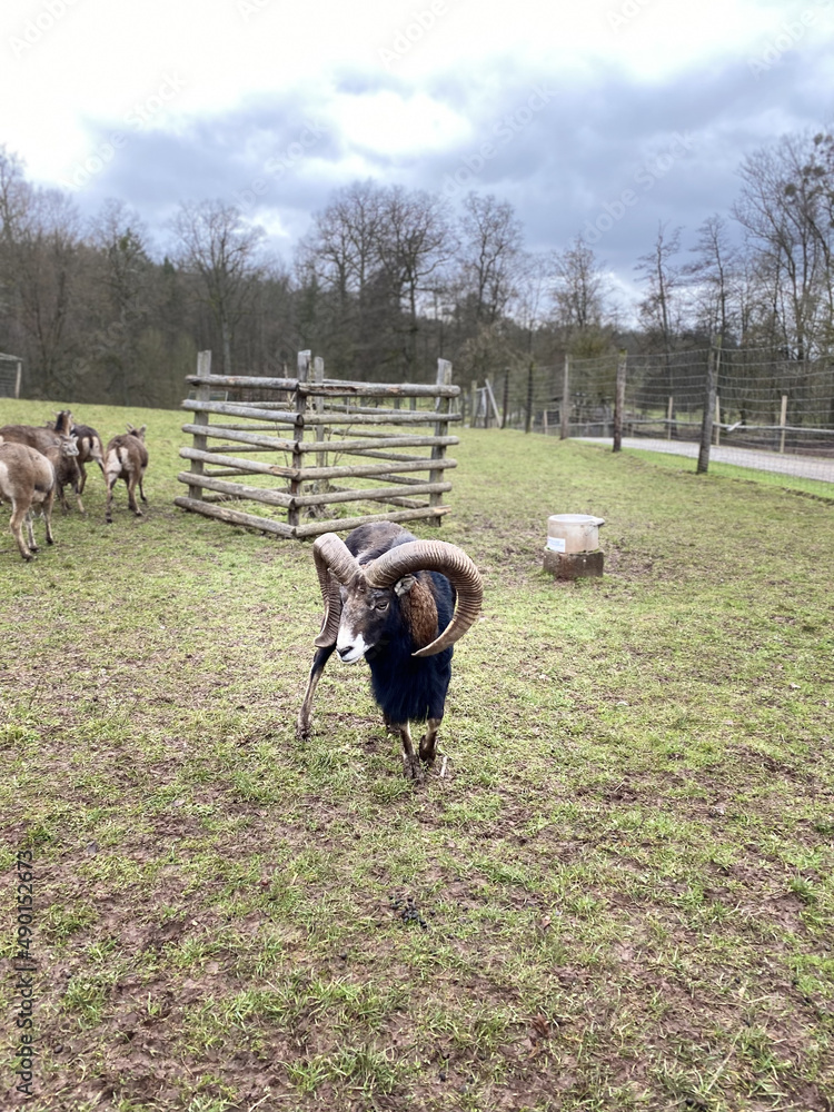
<svg viewBox="0 0 834 1112">
<path fill-rule="evenodd" d="M 708 416 L 712 458 L 765 466 L 765 457 L 778 456 L 768 469 L 834 481 L 834 364 L 827 359 L 797 363 L 717 348 L 566 357 L 560 365 L 530 365 L 471 384 L 468 424 L 613 439 L 618 364 L 626 445 L 695 455 Z"/>
</svg>

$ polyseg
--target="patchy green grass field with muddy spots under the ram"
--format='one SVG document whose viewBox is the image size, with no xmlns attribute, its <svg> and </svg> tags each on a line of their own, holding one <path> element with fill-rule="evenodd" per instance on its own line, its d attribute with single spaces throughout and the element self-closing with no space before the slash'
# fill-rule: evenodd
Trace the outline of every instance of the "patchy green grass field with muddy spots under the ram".
<svg viewBox="0 0 834 1112">
<path fill-rule="evenodd" d="M 364 666 L 294 738 L 309 546 L 172 506 L 180 415 L 77 416 L 147 421 L 150 505 L 91 473 L 31 565 L 2 509 L 4 1110 L 834 1108 L 831 502 L 465 430 L 484 614 L 415 788 Z M 565 512 L 603 579 L 542 572 Z"/>
</svg>

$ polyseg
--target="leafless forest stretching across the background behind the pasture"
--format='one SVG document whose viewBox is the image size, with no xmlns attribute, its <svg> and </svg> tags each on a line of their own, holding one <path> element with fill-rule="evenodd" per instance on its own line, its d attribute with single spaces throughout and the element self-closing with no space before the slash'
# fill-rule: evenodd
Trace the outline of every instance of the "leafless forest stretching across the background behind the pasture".
<svg viewBox="0 0 834 1112">
<path fill-rule="evenodd" d="M 746 156 L 725 212 L 659 222 L 625 304 L 582 235 L 528 249 L 514 208 L 469 192 L 355 181 L 312 216 L 291 259 L 240 209 L 181 202 L 150 230 L 119 199 L 82 218 L 0 146 L 0 351 L 21 396 L 171 407 L 197 351 L 226 374 L 284 375 L 312 348 L 332 378 L 426 381 L 703 349 L 827 360 L 834 292 L 834 137 L 783 136 Z M 577 216 L 577 226 L 582 224 Z M 159 246 L 160 240 L 163 246 Z M 602 245 L 597 245 L 604 247 Z"/>
</svg>

